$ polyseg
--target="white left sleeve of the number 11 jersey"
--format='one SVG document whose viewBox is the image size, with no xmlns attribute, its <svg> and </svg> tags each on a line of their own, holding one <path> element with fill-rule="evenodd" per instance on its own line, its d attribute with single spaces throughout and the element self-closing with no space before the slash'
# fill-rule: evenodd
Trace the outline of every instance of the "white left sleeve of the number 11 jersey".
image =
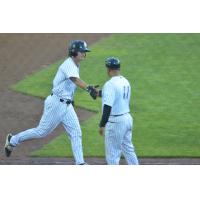
<svg viewBox="0 0 200 200">
<path fill-rule="evenodd" d="M 115 89 L 110 82 L 107 82 L 102 91 L 103 105 L 113 106 L 115 100 Z"/>
</svg>

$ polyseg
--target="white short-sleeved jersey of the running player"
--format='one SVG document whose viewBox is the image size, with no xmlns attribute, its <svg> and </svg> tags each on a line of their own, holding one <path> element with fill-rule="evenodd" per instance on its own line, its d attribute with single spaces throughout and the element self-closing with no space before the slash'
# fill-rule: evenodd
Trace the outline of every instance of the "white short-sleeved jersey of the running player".
<svg viewBox="0 0 200 200">
<path fill-rule="evenodd" d="M 66 59 L 59 67 L 53 80 L 52 92 L 61 99 L 73 100 L 76 85 L 69 79 L 70 77 L 79 78 L 79 66 L 71 57 Z"/>
</svg>

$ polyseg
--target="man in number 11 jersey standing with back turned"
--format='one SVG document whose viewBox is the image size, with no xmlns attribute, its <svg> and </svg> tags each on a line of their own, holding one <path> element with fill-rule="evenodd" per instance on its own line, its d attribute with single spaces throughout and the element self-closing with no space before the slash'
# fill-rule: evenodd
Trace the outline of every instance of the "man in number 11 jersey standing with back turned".
<svg viewBox="0 0 200 200">
<path fill-rule="evenodd" d="M 102 118 L 99 133 L 104 134 L 105 153 L 108 165 L 118 165 L 121 153 L 129 165 L 138 165 L 138 159 L 132 144 L 133 119 L 130 115 L 131 86 L 128 80 L 120 75 L 118 58 L 106 59 L 108 76 L 99 96 L 102 96 Z"/>
</svg>

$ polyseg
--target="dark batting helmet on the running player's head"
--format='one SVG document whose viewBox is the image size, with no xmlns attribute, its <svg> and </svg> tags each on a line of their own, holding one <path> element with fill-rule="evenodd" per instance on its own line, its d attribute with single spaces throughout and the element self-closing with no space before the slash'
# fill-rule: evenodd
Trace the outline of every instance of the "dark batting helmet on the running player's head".
<svg viewBox="0 0 200 200">
<path fill-rule="evenodd" d="M 78 52 L 90 52 L 87 48 L 87 43 L 83 40 L 74 40 L 70 43 L 68 48 L 69 56 L 77 56 Z"/>
</svg>

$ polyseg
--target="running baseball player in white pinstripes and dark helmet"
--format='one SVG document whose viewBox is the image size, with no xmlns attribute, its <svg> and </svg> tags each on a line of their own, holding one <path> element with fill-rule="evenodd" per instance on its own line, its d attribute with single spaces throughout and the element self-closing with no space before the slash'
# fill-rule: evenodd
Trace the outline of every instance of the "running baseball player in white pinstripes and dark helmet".
<svg viewBox="0 0 200 200">
<path fill-rule="evenodd" d="M 86 164 L 82 150 L 82 132 L 78 117 L 73 107 L 76 87 L 80 87 L 92 96 L 97 97 L 97 90 L 88 86 L 79 77 L 79 63 L 90 52 L 85 41 L 72 41 L 68 48 L 68 58 L 60 65 L 53 80 L 53 89 L 44 102 L 44 111 L 39 125 L 18 134 L 8 134 L 5 143 L 5 154 L 11 155 L 14 147 L 24 141 L 42 138 L 50 134 L 60 123 L 64 126 L 71 141 L 75 164 Z"/>
</svg>

